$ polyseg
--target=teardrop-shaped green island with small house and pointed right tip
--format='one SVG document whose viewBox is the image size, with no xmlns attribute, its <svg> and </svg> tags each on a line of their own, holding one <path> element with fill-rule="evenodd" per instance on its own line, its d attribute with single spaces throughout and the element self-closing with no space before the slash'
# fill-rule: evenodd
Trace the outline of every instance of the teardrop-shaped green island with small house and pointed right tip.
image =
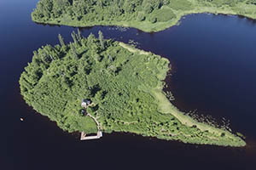
<svg viewBox="0 0 256 170">
<path fill-rule="evenodd" d="M 61 129 L 123 132 L 190 144 L 241 147 L 228 130 L 179 111 L 163 92 L 169 60 L 124 42 L 72 32 L 73 42 L 33 52 L 20 76 L 26 103 Z"/>
</svg>

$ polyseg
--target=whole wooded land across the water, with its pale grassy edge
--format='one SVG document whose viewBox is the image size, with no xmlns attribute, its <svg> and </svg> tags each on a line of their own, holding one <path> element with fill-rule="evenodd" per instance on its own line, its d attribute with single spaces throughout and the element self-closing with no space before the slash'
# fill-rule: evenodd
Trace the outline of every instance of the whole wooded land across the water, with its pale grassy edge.
<svg viewBox="0 0 256 170">
<path fill-rule="evenodd" d="M 239 14 L 256 19 L 256 0 L 40 0 L 38 23 L 66 26 L 131 26 L 161 31 L 186 14 Z"/>
</svg>

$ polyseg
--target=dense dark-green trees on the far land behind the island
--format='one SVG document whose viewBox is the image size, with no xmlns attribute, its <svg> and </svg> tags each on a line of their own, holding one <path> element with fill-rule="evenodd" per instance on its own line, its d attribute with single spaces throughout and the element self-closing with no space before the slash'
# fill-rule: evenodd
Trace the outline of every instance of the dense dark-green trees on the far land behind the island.
<svg viewBox="0 0 256 170">
<path fill-rule="evenodd" d="M 147 14 L 168 4 L 169 0 L 41 0 L 32 17 L 34 20 L 50 20 L 68 15 L 73 20 L 101 21 L 133 20 L 137 16 L 137 20 L 146 20 Z M 170 16 L 165 18 L 162 14 Z M 172 17 L 175 17 L 172 10 L 168 10 L 168 14 L 162 11 L 151 16 L 159 21 Z"/>
</svg>

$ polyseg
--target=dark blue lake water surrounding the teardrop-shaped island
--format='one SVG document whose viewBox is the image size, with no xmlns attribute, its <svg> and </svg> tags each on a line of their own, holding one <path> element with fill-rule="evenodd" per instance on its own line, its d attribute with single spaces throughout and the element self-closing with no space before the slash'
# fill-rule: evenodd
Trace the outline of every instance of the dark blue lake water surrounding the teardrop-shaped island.
<svg viewBox="0 0 256 170">
<path fill-rule="evenodd" d="M 36 0 L 0 1 L 0 169 L 256 169 L 256 24 L 236 16 L 194 14 L 158 33 L 96 26 L 105 37 L 139 42 L 138 47 L 167 57 L 172 77 L 166 82 L 182 111 L 225 117 L 234 131 L 247 136 L 242 149 L 182 144 L 133 134 L 104 134 L 80 142 L 28 107 L 20 96 L 19 77 L 32 51 L 71 41 L 76 28 L 32 22 Z M 20 122 L 20 117 L 24 122 Z M 254 161 L 254 162 L 253 162 Z"/>
</svg>

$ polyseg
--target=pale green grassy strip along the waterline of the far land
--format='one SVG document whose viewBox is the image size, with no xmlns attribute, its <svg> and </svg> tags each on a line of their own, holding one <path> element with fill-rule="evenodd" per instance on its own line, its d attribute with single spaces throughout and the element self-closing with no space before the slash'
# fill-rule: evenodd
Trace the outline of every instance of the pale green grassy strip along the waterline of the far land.
<svg viewBox="0 0 256 170">
<path fill-rule="evenodd" d="M 38 24 L 49 24 L 49 25 L 56 25 L 56 26 L 74 26 L 74 27 L 87 27 L 87 26 L 123 26 L 123 27 L 132 27 L 136 28 L 138 30 L 144 31 L 144 32 L 158 32 L 158 31 L 164 31 L 167 28 L 170 28 L 172 26 L 177 26 L 180 22 L 180 20 L 183 17 L 186 17 L 189 14 L 226 14 L 226 15 L 235 15 L 235 16 L 241 16 L 245 17 L 247 19 L 251 20 L 256 20 L 256 14 L 237 14 L 236 12 L 232 10 L 227 10 L 227 9 L 218 9 L 218 8 L 198 8 L 194 9 L 191 11 L 184 11 L 184 12 L 179 12 L 177 13 L 177 17 L 168 20 L 166 22 L 156 22 L 156 23 L 151 23 L 148 20 L 145 21 L 94 21 L 94 22 L 86 22 L 84 23 L 83 21 L 79 20 L 62 20 L 62 19 L 57 19 L 57 20 L 47 20 L 47 21 L 41 21 L 37 20 L 32 17 L 32 20 L 34 22 L 37 22 Z M 68 17 L 68 16 L 67 16 Z"/>
</svg>

